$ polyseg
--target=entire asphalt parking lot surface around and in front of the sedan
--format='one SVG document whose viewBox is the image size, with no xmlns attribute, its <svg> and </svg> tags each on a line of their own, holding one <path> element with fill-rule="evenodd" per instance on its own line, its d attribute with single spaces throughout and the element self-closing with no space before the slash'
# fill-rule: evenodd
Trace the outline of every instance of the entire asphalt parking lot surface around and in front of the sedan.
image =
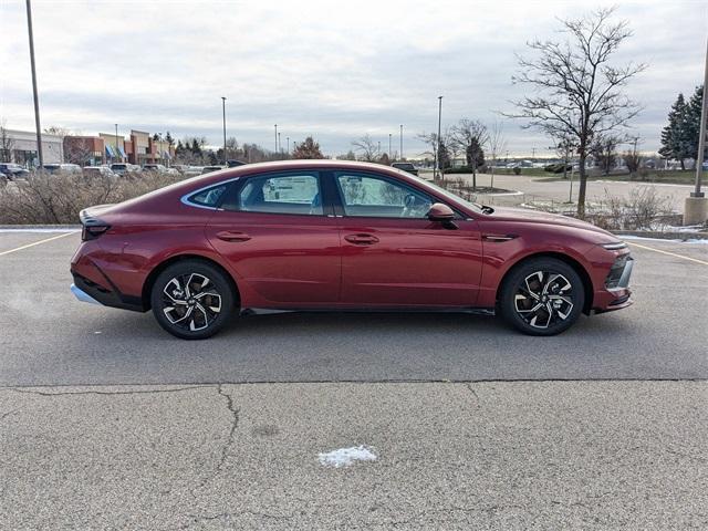
<svg viewBox="0 0 708 531">
<path fill-rule="evenodd" d="M 558 337 L 280 314 L 184 342 L 75 301 L 77 242 L 0 231 L 0 529 L 708 528 L 707 244 L 632 240 L 634 306 Z"/>
</svg>

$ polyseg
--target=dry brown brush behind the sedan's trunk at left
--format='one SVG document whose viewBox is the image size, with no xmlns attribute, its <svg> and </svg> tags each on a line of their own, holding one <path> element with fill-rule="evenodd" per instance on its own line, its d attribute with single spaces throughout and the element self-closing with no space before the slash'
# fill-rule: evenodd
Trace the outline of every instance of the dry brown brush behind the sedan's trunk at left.
<svg viewBox="0 0 708 531">
<path fill-rule="evenodd" d="M 121 202 L 181 179 L 152 173 L 117 178 L 37 173 L 0 187 L 0 225 L 77 223 L 86 207 Z"/>
</svg>

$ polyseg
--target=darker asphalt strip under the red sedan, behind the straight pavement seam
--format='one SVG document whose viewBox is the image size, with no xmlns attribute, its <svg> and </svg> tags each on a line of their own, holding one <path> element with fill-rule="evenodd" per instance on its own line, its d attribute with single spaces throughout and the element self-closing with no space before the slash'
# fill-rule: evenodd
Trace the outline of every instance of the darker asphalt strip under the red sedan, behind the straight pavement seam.
<svg viewBox="0 0 708 531">
<path fill-rule="evenodd" d="M 0 249 L 46 237 L 0 232 Z M 708 376 L 706 244 L 636 241 L 686 258 L 634 246 L 635 305 L 558 337 L 469 315 L 280 314 L 184 342 L 150 314 L 75 301 L 77 243 L 70 235 L 0 254 L 0 386 Z"/>
</svg>

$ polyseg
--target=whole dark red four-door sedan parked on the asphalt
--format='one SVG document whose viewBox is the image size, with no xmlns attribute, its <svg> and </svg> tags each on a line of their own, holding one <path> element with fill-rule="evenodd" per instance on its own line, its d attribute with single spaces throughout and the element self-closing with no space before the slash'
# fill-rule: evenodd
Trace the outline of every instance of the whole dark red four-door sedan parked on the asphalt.
<svg viewBox="0 0 708 531">
<path fill-rule="evenodd" d="M 613 235 L 374 164 L 247 165 L 87 208 L 81 222 L 76 296 L 152 309 L 184 339 L 273 310 L 499 313 L 552 335 L 632 303 L 633 259 Z"/>
</svg>

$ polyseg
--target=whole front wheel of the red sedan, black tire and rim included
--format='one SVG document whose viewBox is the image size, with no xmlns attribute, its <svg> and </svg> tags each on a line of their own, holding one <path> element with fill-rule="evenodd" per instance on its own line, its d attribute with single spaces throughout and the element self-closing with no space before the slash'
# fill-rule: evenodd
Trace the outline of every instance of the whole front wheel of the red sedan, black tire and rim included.
<svg viewBox="0 0 708 531">
<path fill-rule="evenodd" d="M 577 321 L 585 303 L 583 281 L 554 258 L 531 258 L 504 279 L 499 310 L 504 320 L 529 335 L 555 335 Z"/>
</svg>

